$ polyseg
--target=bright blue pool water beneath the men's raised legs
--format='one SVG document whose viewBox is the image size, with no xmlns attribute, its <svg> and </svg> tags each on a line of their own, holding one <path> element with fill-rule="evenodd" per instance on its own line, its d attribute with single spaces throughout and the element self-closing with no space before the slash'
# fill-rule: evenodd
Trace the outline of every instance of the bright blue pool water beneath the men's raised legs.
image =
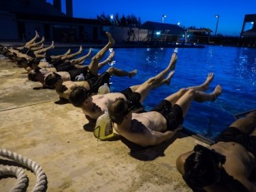
<svg viewBox="0 0 256 192">
<path fill-rule="evenodd" d="M 93 54 L 99 49 L 93 49 Z M 137 69 L 133 78 L 112 77 L 111 90 L 119 92 L 158 74 L 170 62 L 173 48 L 114 49 L 114 67 L 126 71 Z M 88 49 L 85 49 L 86 53 Z M 256 49 L 209 45 L 205 48 L 180 48 L 174 77 L 169 86 L 163 85 L 150 92 L 144 101 L 146 109 L 181 88 L 200 85 L 207 74 L 214 72 L 209 92 L 218 84 L 223 92 L 214 102 L 196 103 L 188 110 L 184 121 L 186 129 L 208 139 L 216 136 L 235 120 L 233 114 L 256 108 Z M 90 60 L 86 61 L 88 64 Z M 100 72 L 105 71 L 104 67 Z"/>
</svg>

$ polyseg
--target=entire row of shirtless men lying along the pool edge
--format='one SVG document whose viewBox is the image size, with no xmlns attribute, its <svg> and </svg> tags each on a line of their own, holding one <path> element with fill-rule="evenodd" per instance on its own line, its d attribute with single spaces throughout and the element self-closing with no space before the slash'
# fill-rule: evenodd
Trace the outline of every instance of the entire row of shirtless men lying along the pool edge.
<svg viewBox="0 0 256 192">
<path fill-rule="evenodd" d="M 159 86 L 170 85 L 177 63 L 176 53 L 170 56 L 166 69 L 141 85 L 130 86 L 121 92 L 97 94 L 101 85 L 109 85 L 111 75 L 132 77 L 137 74 L 136 70 L 127 72 L 114 67 L 98 74 L 99 69 L 115 55 L 112 50 L 108 59 L 100 63 L 104 54 L 115 44 L 112 34 L 106 32 L 106 35 L 108 43 L 92 57 L 89 66 L 82 66 L 81 63 L 90 57 L 91 49 L 86 56 L 75 60 L 71 58 L 82 53 L 81 47 L 78 53 L 72 54 L 68 50 L 61 56 L 46 56 L 46 51 L 53 49 L 54 45 L 42 48 L 40 42 L 39 46 L 34 46 L 37 44 L 37 32 L 35 38 L 24 47 L 2 47 L 1 53 L 9 56 L 19 67 L 24 67 L 29 79 L 42 82 L 46 88 L 56 89 L 60 98 L 80 107 L 93 123 L 108 111 L 108 125 L 120 136 L 141 147 L 158 145 L 175 138 L 192 101 L 214 101 L 221 95 L 221 85 L 210 93 L 206 92 L 214 79 L 214 74 L 210 73 L 201 85 L 182 88 L 164 98 L 152 110 L 145 111 L 143 101 L 149 92 Z M 24 51 L 29 54 L 22 53 Z M 83 74 L 82 77 L 79 74 Z M 233 121 L 210 147 L 196 145 L 194 150 L 177 157 L 177 170 L 188 187 L 194 191 L 256 191 L 253 176 L 256 166 L 255 128 L 256 111 L 253 111 Z"/>
</svg>

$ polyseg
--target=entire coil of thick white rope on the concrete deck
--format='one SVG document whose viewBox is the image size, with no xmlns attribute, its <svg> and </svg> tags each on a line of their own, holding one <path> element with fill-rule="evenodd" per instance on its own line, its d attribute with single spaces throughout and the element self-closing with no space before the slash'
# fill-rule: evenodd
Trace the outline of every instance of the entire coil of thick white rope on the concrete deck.
<svg viewBox="0 0 256 192">
<path fill-rule="evenodd" d="M 24 158 L 20 154 L 13 153 L 10 150 L 0 149 L 0 156 L 4 158 L 9 158 L 13 161 L 16 161 L 17 163 L 20 163 L 20 165 L 24 165 L 27 168 L 30 168 L 37 178 L 37 183 L 33 189 L 35 192 L 39 192 L 45 189 L 46 185 L 46 174 L 43 172 L 42 167 L 38 165 L 35 161 L 32 161 L 31 159 Z M 22 190 L 27 183 L 27 176 L 24 172 L 24 170 L 20 170 L 22 168 L 15 168 L 13 166 L 9 166 L 8 168 L 4 168 L 0 170 L 0 175 L 14 175 L 17 177 L 17 183 L 16 186 L 13 187 L 13 191 L 20 191 Z M 7 173 L 7 174 L 6 174 Z M 24 179 L 25 178 L 25 179 Z M 22 187 L 22 188 L 21 188 Z"/>
</svg>

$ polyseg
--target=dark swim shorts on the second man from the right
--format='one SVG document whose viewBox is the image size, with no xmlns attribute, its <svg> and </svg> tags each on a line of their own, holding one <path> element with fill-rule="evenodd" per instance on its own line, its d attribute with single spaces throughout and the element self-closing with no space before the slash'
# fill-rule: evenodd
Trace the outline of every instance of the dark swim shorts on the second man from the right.
<svg viewBox="0 0 256 192">
<path fill-rule="evenodd" d="M 183 123 L 183 111 L 181 107 L 177 104 L 172 106 L 167 100 L 161 101 L 158 106 L 152 108 L 150 111 L 157 111 L 166 118 L 167 130 L 173 131 Z"/>
</svg>

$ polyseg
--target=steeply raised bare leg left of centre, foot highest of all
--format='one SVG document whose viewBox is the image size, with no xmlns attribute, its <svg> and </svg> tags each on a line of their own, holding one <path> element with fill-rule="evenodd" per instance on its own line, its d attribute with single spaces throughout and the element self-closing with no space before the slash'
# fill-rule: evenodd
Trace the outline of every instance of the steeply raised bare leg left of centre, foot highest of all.
<svg viewBox="0 0 256 192">
<path fill-rule="evenodd" d="M 112 38 L 112 34 L 109 32 L 106 32 L 108 36 L 108 44 L 104 46 L 103 49 L 101 49 L 96 56 L 93 56 L 92 61 L 90 62 L 89 69 L 92 74 L 97 75 L 98 74 L 98 63 L 103 58 L 104 54 L 107 53 L 108 49 L 112 47 L 112 45 L 115 44 L 114 38 Z"/>
</svg>

